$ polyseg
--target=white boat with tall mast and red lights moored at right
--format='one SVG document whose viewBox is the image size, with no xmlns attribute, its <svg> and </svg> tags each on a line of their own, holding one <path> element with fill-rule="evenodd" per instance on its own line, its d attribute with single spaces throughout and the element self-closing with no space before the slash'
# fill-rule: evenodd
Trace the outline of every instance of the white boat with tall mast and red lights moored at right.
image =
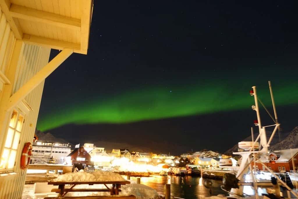
<svg viewBox="0 0 298 199">
<path fill-rule="evenodd" d="M 286 189 L 288 189 L 294 196 L 296 196 L 298 198 L 297 193 L 293 192 L 293 190 L 289 186 L 290 182 L 291 182 L 290 178 L 289 178 L 290 175 L 276 174 L 271 171 L 271 168 L 267 167 L 265 164 L 263 164 L 263 162 L 261 160 L 259 160 L 259 157 L 261 154 L 263 154 L 264 156 L 268 156 L 268 154 L 269 154 L 268 147 L 270 146 L 273 136 L 276 133 L 277 129 L 279 129 L 279 126 L 280 126 L 280 123 L 277 121 L 277 113 L 276 113 L 276 109 L 275 109 L 271 83 L 270 83 L 270 81 L 268 81 L 268 83 L 269 83 L 269 89 L 270 89 L 271 100 L 272 100 L 274 116 L 275 116 L 275 120 L 273 117 L 272 117 L 272 119 L 274 120 L 275 124 L 268 125 L 268 126 L 262 126 L 260 112 L 259 112 L 259 105 L 258 105 L 259 99 L 257 97 L 257 89 L 256 89 L 256 86 L 253 86 L 252 90 L 250 91 L 250 95 L 254 97 L 255 105 L 252 105 L 252 110 L 256 111 L 257 120 L 254 120 L 254 125 L 257 126 L 257 128 L 259 130 L 259 135 L 257 136 L 257 138 L 254 139 L 253 128 L 251 127 L 252 141 L 251 142 L 239 142 L 238 144 L 239 144 L 240 151 L 233 153 L 234 155 L 241 156 L 241 158 L 240 158 L 241 161 L 237 162 L 237 164 L 240 164 L 239 167 L 237 167 L 238 172 L 236 175 L 231 174 L 231 173 L 225 173 L 223 176 L 223 184 L 224 185 L 221 186 L 221 188 L 224 191 L 228 192 L 229 195 L 232 197 L 235 197 L 235 196 L 243 197 L 245 195 L 243 193 L 243 186 L 252 186 L 254 188 L 255 192 L 257 192 L 258 186 L 271 186 L 271 187 L 274 187 L 274 189 L 275 189 L 276 197 L 280 198 L 280 186 L 278 186 L 278 184 L 277 184 L 277 183 L 279 183 L 282 186 L 286 187 Z M 266 107 L 264 107 L 264 108 L 266 109 Z M 272 131 L 270 138 L 267 140 L 266 128 L 268 128 L 268 127 L 274 128 L 274 130 Z M 259 142 L 260 142 L 260 144 L 259 144 Z M 265 181 L 258 182 L 258 180 L 256 179 L 256 176 L 253 172 L 250 172 L 252 181 L 251 182 L 245 181 L 245 178 L 244 178 L 245 174 L 248 173 L 249 170 L 252 171 L 252 166 L 253 166 L 253 164 L 255 165 L 256 162 L 262 164 L 263 168 L 265 170 L 267 170 L 272 175 L 271 180 L 269 182 L 265 182 Z M 224 164 L 226 164 L 226 162 L 222 161 L 221 164 L 224 165 Z M 229 162 L 228 162 L 228 165 L 229 165 Z M 221 168 L 224 168 L 224 166 Z M 292 181 L 295 181 L 295 180 L 297 181 L 297 178 L 293 177 Z M 208 184 L 208 183 L 204 183 L 204 184 Z"/>
</svg>

